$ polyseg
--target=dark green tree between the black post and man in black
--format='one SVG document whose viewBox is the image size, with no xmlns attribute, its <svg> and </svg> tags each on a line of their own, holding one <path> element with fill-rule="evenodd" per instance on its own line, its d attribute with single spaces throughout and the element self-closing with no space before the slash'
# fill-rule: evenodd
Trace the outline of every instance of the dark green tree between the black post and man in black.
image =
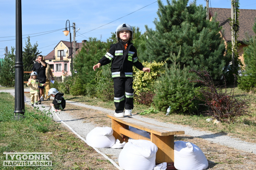
<svg viewBox="0 0 256 170">
<path fill-rule="evenodd" d="M 37 42 L 34 44 L 34 46 L 30 43 L 30 37 L 27 37 L 28 41 L 25 40 L 25 48 L 23 47 L 23 65 L 24 65 L 24 71 L 32 71 L 32 67 L 34 65 L 34 61 L 37 58 L 37 55 L 39 55 L 41 52 L 37 49 L 38 44 Z M 24 74 L 24 81 L 27 81 L 29 79 L 29 74 Z"/>
</svg>

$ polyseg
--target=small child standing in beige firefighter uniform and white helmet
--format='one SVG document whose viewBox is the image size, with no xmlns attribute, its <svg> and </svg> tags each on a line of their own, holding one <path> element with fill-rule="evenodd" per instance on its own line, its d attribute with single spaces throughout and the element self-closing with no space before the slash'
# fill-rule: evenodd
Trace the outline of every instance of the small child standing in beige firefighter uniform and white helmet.
<svg viewBox="0 0 256 170">
<path fill-rule="evenodd" d="M 33 71 L 31 73 L 31 79 L 28 80 L 27 85 L 30 86 L 30 99 L 31 99 L 31 106 L 34 107 L 35 105 L 38 105 L 38 96 L 39 96 L 39 89 L 38 86 L 45 86 L 45 84 L 42 84 L 37 79 L 37 72 Z"/>
</svg>

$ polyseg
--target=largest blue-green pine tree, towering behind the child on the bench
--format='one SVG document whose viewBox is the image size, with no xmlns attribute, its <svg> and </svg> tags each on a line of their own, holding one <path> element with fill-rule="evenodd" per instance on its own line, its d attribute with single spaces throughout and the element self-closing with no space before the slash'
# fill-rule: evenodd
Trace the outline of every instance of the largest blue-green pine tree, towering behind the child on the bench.
<svg viewBox="0 0 256 170">
<path fill-rule="evenodd" d="M 205 68 L 214 79 L 221 77 L 227 59 L 224 41 L 219 31 L 219 23 L 206 20 L 206 8 L 196 6 L 196 1 L 166 1 L 164 5 L 158 0 L 158 19 L 155 19 L 155 30 L 146 26 L 147 49 L 144 57 L 147 61 L 165 61 L 170 54 L 178 54 L 181 47 L 180 63 L 195 70 Z M 171 64 L 169 60 L 168 64 Z"/>
</svg>

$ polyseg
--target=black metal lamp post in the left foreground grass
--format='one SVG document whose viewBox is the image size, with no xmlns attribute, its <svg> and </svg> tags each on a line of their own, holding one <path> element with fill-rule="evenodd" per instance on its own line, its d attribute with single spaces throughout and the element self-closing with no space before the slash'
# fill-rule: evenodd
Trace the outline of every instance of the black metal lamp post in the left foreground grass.
<svg viewBox="0 0 256 170">
<path fill-rule="evenodd" d="M 22 21 L 21 0 L 16 0 L 16 52 L 15 52 L 15 109 L 14 113 L 23 114 L 24 104 L 24 72 L 22 61 Z"/>
</svg>

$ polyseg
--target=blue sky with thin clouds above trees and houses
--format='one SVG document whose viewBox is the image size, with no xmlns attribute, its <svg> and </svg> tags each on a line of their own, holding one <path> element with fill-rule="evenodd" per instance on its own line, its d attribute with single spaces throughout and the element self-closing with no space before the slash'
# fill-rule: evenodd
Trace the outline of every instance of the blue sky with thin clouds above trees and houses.
<svg viewBox="0 0 256 170">
<path fill-rule="evenodd" d="M 189 0 L 190 2 L 191 0 Z M 166 4 L 166 0 L 162 0 Z M 255 0 L 240 0 L 240 9 L 256 9 Z M 4 58 L 5 47 L 8 51 L 16 48 L 15 22 L 16 1 L 0 0 L 0 58 Z M 197 0 L 197 5 L 206 6 L 205 0 Z M 76 41 L 88 40 L 89 37 L 106 41 L 123 22 L 140 28 L 145 32 L 145 25 L 155 29 L 153 21 L 157 18 L 156 0 L 22 0 L 22 46 L 25 47 L 27 36 L 30 43 L 38 44 L 41 55 L 47 55 L 61 41 L 70 41 L 65 36 L 66 21 L 76 24 Z M 231 8 L 230 0 L 209 0 L 209 7 Z M 248 14 L 250 15 L 250 14 Z M 79 29 L 79 30 L 78 30 Z"/>
</svg>

